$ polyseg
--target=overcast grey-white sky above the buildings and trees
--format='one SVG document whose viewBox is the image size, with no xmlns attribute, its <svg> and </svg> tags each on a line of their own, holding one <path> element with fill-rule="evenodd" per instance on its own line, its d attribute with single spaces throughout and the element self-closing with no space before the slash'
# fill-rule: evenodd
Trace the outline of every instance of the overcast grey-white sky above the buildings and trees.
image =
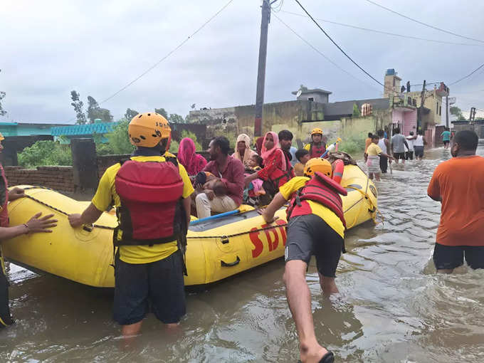
<svg viewBox="0 0 484 363">
<path fill-rule="evenodd" d="M 280 1 L 277 4 L 280 4 Z M 484 1 L 375 0 L 423 22 L 484 40 Z M 22 1 L 0 6 L 0 121 L 75 121 L 70 90 L 86 102 L 109 97 L 157 63 L 228 0 Z M 432 43 L 320 22 L 337 43 L 375 78 L 395 68 L 403 83 L 452 83 L 484 63 L 484 43 L 426 28 L 364 0 L 301 0 L 320 19 L 440 41 Z M 127 107 L 164 107 L 188 114 L 190 105 L 231 107 L 255 102 L 261 0 L 232 3 L 179 50 L 105 102 L 115 120 Z M 332 91 L 330 101 L 382 97 L 382 86 L 350 63 L 293 0 L 275 15 L 340 65 L 329 63 L 274 16 L 269 27 L 265 102 L 293 100 L 300 84 Z M 413 90 L 416 90 L 414 88 Z M 484 109 L 484 68 L 451 86 L 463 110 Z"/>
</svg>

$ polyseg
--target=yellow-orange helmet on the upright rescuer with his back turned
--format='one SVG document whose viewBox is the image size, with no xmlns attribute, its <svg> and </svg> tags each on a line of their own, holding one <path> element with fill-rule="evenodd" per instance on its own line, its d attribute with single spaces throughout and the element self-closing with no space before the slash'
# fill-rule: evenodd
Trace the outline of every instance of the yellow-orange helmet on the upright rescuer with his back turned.
<svg viewBox="0 0 484 363">
<path fill-rule="evenodd" d="M 162 139 L 169 139 L 172 135 L 167 119 L 156 112 L 144 112 L 133 117 L 127 132 L 130 142 L 142 147 L 155 147 Z"/>
</svg>

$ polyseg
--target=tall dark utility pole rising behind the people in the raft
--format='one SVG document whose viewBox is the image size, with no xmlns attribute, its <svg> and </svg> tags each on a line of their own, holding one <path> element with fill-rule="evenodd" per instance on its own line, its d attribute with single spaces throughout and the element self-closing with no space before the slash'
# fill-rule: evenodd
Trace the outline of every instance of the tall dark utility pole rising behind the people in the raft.
<svg viewBox="0 0 484 363">
<path fill-rule="evenodd" d="M 262 135 L 262 107 L 264 105 L 265 60 L 267 58 L 267 33 L 270 23 L 270 6 L 277 0 L 263 0 L 261 19 L 261 43 L 259 44 L 259 67 L 257 73 L 256 120 L 254 136 Z"/>
</svg>

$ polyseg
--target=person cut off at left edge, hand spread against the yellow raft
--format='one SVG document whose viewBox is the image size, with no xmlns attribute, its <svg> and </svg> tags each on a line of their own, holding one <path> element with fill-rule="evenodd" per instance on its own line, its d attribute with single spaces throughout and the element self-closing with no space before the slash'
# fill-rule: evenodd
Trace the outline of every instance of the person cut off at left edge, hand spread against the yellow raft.
<svg viewBox="0 0 484 363">
<path fill-rule="evenodd" d="M 4 149 L 1 146 L 1 140 L 4 139 L 4 136 L 0 134 L 0 152 Z M 53 214 L 41 217 L 41 213 L 36 214 L 26 223 L 19 224 L 19 226 L 9 226 L 7 204 L 9 204 L 9 201 L 14 201 L 23 196 L 25 196 L 25 193 L 21 188 L 14 187 L 9 191 L 4 168 L 0 164 L 0 327 L 14 324 L 14 320 L 10 315 L 9 281 L 5 275 L 1 241 L 27 233 L 52 232 L 49 228 L 57 226 L 57 220 L 51 219 L 54 216 Z"/>
</svg>

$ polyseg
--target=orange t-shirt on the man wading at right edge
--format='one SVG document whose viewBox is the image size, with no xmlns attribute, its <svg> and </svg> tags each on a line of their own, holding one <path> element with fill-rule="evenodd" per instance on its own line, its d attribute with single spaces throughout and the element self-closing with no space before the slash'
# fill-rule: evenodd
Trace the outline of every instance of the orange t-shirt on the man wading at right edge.
<svg viewBox="0 0 484 363">
<path fill-rule="evenodd" d="M 442 200 L 437 243 L 484 246 L 484 157 L 454 157 L 439 164 L 427 194 Z"/>
</svg>

